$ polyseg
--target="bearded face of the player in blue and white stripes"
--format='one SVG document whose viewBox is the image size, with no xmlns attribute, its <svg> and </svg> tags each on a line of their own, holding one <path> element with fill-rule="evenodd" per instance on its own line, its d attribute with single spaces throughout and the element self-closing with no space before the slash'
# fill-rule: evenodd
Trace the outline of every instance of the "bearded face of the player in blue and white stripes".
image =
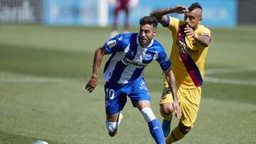
<svg viewBox="0 0 256 144">
<path fill-rule="evenodd" d="M 143 25 L 139 28 L 139 45 L 146 48 L 151 42 L 152 38 L 156 35 L 156 28 L 153 25 Z"/>
</svg>

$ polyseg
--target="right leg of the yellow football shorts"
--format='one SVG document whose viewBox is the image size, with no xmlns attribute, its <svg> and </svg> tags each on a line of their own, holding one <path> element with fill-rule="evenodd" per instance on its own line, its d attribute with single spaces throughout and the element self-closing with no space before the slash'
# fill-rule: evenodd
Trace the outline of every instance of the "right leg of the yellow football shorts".
<svg viewBox="0 0 256 144">
<path fill-rule="evenodd" d="M 181 106 L 181 123 L 193 127 L 201 101 L 201 87 L 196 89 L 178 89 Z"/>
</svg>

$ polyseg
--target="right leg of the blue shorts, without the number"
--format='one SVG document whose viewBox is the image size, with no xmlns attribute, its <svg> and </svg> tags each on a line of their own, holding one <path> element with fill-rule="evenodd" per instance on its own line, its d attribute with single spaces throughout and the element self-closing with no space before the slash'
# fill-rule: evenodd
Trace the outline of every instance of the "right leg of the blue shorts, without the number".
<svg viewBox="0 0 256 144">
<path fill-rule="evenodd" d="M 136 79 L 130 82 L 125 89 L 134 107 L 138 101 L 151 101 L 144 79 Z"/>
</svg>

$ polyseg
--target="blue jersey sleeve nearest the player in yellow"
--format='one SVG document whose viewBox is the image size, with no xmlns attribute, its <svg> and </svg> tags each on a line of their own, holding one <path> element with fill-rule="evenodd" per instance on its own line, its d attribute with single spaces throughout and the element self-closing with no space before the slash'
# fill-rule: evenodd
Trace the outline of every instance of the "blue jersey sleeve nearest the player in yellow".
<svg viewBox="0 0 256 144">
<path fill-rule="evenodd" d="M 167 56 L 166 52 L 164 51 L 164 48 L 159 52 L 159 57 L 156 59 L 157 62 L 159 62 L 159 65 L 163 71 L 168 70 L 171 66 L 171 61 L 169 60 L 169 57 Z"/>
</svg>

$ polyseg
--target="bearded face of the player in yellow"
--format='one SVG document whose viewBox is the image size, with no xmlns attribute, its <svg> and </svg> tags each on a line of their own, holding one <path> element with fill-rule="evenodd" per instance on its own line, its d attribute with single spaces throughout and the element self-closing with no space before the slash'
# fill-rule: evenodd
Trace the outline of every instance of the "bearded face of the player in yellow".
<svg viewBox="0 0 256 144">
<path fill-rule="evenodd" d="M 194 9 L 184 14 L 184 22 L 190 28 L 195 29 L 199 23 L 202 21 L 202 11 L 201 9 Z"/>
</svg>

